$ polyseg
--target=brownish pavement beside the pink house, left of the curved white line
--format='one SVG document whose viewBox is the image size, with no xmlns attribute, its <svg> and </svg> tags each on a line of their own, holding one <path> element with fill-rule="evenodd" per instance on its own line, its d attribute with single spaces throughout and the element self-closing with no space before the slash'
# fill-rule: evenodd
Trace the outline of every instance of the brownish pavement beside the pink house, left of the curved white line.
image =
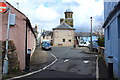
<svg viewBox="0 0 120 80">
<path fill-rule="evenodd" d="M 48 51 L 49 52 L 49 51 Z M 36 71 L 43 68 L 44 66 L 52 63 L 54 58 L 47 53 L 47 51 L 41 50 L 37 47 L 30 61 L 30 71 Z"/>
</svg>

